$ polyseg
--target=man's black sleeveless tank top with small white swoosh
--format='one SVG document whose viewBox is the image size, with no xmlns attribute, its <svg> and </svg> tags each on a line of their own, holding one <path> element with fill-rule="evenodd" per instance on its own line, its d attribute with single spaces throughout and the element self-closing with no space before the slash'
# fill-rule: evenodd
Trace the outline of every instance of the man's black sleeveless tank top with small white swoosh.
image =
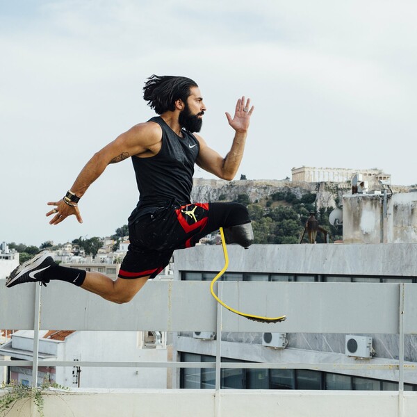
<svg viewBox="0 0 417 417">
<path fill-rule="evenodd" d="M 132 215 L 140 208 L 163 206 L 168 202 L 188 204 L 193 188 L 194 164 L 199 153 L 198 140 L 185 130 L 181 131 L 181 138 L 162 117 L 152 117 L 149 122 L 161 126 L 161 150 L 150 158 L 132 156 L 140 194 L 138 206 Z"/>
</svg>

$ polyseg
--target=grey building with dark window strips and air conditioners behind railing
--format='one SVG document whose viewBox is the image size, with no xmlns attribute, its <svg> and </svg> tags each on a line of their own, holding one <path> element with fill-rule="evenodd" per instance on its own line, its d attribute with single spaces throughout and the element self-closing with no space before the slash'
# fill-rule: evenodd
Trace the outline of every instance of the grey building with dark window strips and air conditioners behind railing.
<svg viewBox="0 0 417 417">
<path fill-rule="evenodd" d="M 300 286 L 300 291 L 303 291 L 303 282 L 322 286 L 323 291 L 329 283 L 346 282 L 354 283 L 360 292 L 364 284 L 417 284 L 416 256 L 416 243 L 252 245 L 249 250 L 229 245 L 230 264 L 222 279 L 265 283 L 286 281 Z M 223 264 L 219 246 L 181 250 L 176 254 L 176 277 L 186 281 L 210 281 Z M 183 332 L 174 337 L 174 352 L 177 352 L 180 361 L 214 361 L 215 335 L 201 333 L 195 329 L 195 332 Z M 349 354 L 347 336 L 349 340 L 362 336 L 370 338 L 366 359 Z M 415 335 L 406 335 L 405 360 L 411 364 L 417 363 L 416 344 Z M 398 374 L 392 370 L 341 370 L 335 373 L 329 372 L 327 364 L 365 360 L 383 365 L 398 361 L 398 352 L 398 335 L 391 334 L 231 332 L 222 334 L 222 356 L 225 361 L 288 363 L 288 366 L 286 369 L 224 369 L 222 387 L 389 391 L 398 388 Z M 295 364 L 294 368 L 291 368 L 291 363 Z M 296 366 L 298 363 L 315 363 L 315 369 L 300 369 Z M 181 388 L 213 388 L 213 377 L 213 369 L 189 368 L 177 374 L 176 383 Z M 416 391 L 415 372 L 407 373 L 404 382 L 404 389 Z"/>
</svg>

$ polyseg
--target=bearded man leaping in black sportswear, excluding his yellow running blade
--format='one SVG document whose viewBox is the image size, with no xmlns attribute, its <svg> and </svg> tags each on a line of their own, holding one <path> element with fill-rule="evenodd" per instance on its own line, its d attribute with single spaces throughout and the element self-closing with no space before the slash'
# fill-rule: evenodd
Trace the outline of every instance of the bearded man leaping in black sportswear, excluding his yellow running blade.
<svg viewBox="0 0 417 417">
<path fill-rule="evenodd" d="M 100 272 L 57 265 L 47 251 L 17 267 L 6 280 L 12 287 L 39 281 L 46 286 L 58 279 L 98 294 L 106 300 L 129 302 L 170 262 L 176 249 L 193 247 L 199 239 L 224 228 L 227 243 L 248 247 L 253 242 L 250 218 L 237 203 L 191 203 L 195 163 L 221 179 L 234 179 L 242 161 L 249 129 L 250 99 L 238 99 L 234 117 L 226 113 L 234 129 L 229 153 L 223 158 L 197 135 L 206 111 L 197 83 L 183 76 L 147 79 L 144 99 L 158 114 L 136 124 L 97 152 L 83 167 L 67 194 L 48 211 L 49 224 L 75 215 L 81 223 L 79 200 L 108 164 L 131 158 L 139 190 L 139 202 L 129 217 L 130 245 L 115 281 Z"/>
</svg>

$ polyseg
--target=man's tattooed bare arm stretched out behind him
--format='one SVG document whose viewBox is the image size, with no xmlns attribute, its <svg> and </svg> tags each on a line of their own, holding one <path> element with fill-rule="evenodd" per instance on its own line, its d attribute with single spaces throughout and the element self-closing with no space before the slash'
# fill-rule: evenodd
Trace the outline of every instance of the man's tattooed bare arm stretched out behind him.
<svg viewBox="0 0 417 417">
<path fill-rule="evenodd" d="M 76 177 L 70 188 L 71 192 L 77 197 L 82 197 L 88 187 L 106 170 L 108 164 L 121 162 L 130 156 L 149 152 L 149 149 L 161 142 L 161 136 L 161 127 L 156 123 L 148 122 L 133 126 L 92 156 Z M 47 213 L 47 216 L 56 214 L 49 224 L 58 224 L 72 214 L 80 223 L 83 222 L 78 206 L 70 206 L 63 199 L 47 204 L 57 206 L 58 210 L 58 213 L 54 210 Z"/>
</svg>

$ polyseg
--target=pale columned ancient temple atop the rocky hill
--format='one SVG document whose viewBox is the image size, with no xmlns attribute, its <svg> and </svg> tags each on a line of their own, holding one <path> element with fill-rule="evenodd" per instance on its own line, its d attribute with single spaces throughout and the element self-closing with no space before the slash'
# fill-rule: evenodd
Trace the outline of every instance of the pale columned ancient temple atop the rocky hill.
<svg viewBox="0 0 417 417">
<path fill-rule="evenodd" d="M 304 166 L 291 170 L 291 180 L 306 182 L 345 182 L 350 181 L 354 174 L 362 174 L 364 181 L 377 181 L 380 179 L 391 182 L 391 174 L 384 174 L 379 168 L 353 170 L 350 168 L 319 168 Z"/>
</svg>

